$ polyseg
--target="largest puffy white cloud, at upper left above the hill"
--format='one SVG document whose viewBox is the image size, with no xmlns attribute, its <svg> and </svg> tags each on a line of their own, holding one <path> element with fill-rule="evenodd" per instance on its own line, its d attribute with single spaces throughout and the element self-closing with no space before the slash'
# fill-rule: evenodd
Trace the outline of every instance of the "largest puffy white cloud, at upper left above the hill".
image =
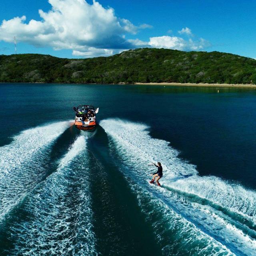
<svg viewBox="0 0 256 256">
<path fill-rule="evenodd" d="M 126 19 L 115 16 L 114 9 L 104 8 L 93 0 L 49 0 L 52 9 L 39 10 L 41 21 L 26 17 L 3 20 L 0 26 L 0 40 L 12 42 L 16 36 L 18 42 L 34 46 L 50 46 L 55 50 L 72 49 L 84 52 L 90 47 L 106 49 L 134 48 L 124 34 L 136 34 L 139 29 L 150 25 L 135 26 Z M 100 52 L 100 51 L 99 51 Z"/>
</svg>

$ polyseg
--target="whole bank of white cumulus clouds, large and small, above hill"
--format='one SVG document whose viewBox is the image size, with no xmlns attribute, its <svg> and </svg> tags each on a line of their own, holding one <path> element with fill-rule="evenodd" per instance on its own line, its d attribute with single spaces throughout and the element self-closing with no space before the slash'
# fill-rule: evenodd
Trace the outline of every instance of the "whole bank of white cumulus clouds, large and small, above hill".
<svg viewBox="0 0 256 256">
<path fill-rule="evenodd" d="M 151 37 L 149 42 L 126 39 L 138 31 L 152 28 L 148 24 L 136 26 L 130 20 L 118 18 L 113 8 L 104 8 L 93 0 L 48 0 L 52 8 L 39 10 L 41 20 L 26 21 L 26 16 L 3 20 L 0 25 L 0 40 L 25 42 L 36 47 L 52 47 L 54 50 L 70 49 L 74 56 L 84 58 L 109 56 L 123 50 L 156 47 L 177 50 L 202 50 L 209 43 L 199 40 L 184 40 L 176 36 Z M 171 30 L 168 33 L 172 33 Z M 192 36 L 189 28 L 179 34 Z"/>
</svg>

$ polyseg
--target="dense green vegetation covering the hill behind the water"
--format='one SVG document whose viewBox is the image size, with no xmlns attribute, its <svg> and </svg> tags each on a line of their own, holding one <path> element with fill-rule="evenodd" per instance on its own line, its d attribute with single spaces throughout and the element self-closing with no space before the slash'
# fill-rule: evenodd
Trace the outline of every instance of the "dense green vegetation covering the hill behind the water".
<svg viewBox="0 0 256 256">
<path fill-rule="evenodd" d="M 222 52 L 154 48 L 90 59 L 0 55 L 0 82 L 256 84 L 256 60 Z"/>
</svg>

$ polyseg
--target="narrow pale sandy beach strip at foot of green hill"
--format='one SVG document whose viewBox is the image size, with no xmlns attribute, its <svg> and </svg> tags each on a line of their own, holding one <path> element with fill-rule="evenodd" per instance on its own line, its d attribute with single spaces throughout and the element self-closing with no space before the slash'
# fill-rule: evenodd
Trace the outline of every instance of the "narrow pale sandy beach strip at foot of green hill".
<svg viewBox="0 0 256 256">
<path fill-rule="evenodd" d="M 226 87 L 256 88 L 256 84 L 192 84 L 192 83 L 134 83 L 138 85 L 191 86 L 191 87 Z"/>
</svg>

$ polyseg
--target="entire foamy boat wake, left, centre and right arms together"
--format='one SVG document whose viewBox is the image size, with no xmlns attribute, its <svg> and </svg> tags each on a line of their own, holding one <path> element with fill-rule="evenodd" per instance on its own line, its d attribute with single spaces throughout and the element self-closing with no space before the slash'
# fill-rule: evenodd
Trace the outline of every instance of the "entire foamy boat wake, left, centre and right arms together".
<svg viewBox="0 0 256 256">
<path fill-rule="evenodd" d="M 99 132 L 100 144 L 92 138 L 96 131 L 79 132 L 69 138 L 66 151 L 70 122 L 58 122 L 25 130 L 0 147 L 1 255 L 97 255 L 104 239 L 97 232 L 105 224 L 96 223 L 94 214 L 101 216 L 98 208 L 109 182 L 104 177 L 112 178 L 116 160 L 125 177 L 122 186 L 128 184 L 124 198 L 134 193 L 163 255 L 256 255 L 255 191 L 216 176 L 199 176 L 195 165 L 180 159 L 168 142 L 152 138 L 144 124 L 111 119 L 100 125 L 106 132 Z M 52 153 L 58 161 L 49 171 Z M 101 154 L 106 168 L 93 164 Z M 104 160 L 109 157 L 111 164 Z M 162 162 L 162 187 L 148 183 L 149 172 L 155 171 L 150 161 Z M 93 197 L 100 186 L 95 176 L 105 185 Z M 117 184 L 112 193 L 119 189 Z M 119 218 L 113 213 L 115 202 L 104 208 L 112 226 Z M 112 226 L 105 234 L 112 232 L 110 237 L 118 241 L 119 226 Z"/>
</svg>

